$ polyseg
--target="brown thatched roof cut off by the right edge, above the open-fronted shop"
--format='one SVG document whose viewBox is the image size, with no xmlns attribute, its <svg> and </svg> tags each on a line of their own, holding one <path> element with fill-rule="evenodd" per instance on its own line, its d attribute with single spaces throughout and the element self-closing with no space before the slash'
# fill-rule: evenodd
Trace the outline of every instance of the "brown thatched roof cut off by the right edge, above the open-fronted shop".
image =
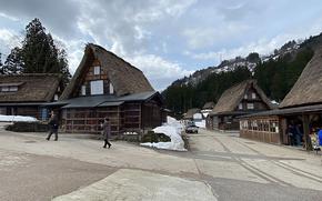
<svg viewBox="0 0 322 201">
<path fill-rule="evenodd" d="M 322 103 L 322 47 L 315 50 L 280 108 Z"/>
</svg>

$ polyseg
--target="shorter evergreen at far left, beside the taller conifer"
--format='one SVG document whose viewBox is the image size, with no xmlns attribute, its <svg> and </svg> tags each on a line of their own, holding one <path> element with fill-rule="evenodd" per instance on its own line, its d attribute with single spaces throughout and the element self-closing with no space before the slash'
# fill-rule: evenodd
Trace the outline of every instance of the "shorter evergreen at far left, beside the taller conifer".
<svg viewBox="0 0 322 201">
<path fill-rule="evenodd" d="M 16 47 L 11 50 L 7 57 L 4 64 L 2 66 L 3 74 L 19 74 L 23 71 L 23 61 L 21 58 L 21 49 Z"/>
</svg>

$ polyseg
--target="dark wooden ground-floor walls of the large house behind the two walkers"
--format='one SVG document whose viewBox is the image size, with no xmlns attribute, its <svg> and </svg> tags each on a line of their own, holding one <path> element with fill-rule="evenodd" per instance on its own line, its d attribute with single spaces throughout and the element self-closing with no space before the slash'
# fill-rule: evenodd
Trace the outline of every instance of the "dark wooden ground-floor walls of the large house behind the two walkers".
<svg viewBox="0 0 322 201">
<path fill-rule="evenodd" d="M 119 107 L 63 109 L 62 130 L 70 133 L 100 133 L 100 122 L 105 117 L 110 119 L 113 135 L 141 132 L 162 122 L 161 110 L 155 102 L 129 102 Z"/>
</svg>

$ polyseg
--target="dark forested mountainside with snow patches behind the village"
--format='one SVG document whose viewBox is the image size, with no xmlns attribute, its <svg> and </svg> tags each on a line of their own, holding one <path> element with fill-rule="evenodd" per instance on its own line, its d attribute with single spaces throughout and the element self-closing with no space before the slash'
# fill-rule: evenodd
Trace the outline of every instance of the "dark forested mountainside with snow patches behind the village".
<svg viewBox="0 0 322 201">
<path fill-rule="evenodd" d="M 251 52 L 246 58 L 225 60 L 174 81 L 162 96 L 167 107 L 180 115 L 190 108 L 202 108 L 208 101 L 217 102 L 228 88 L 252 78 L 269 98 L 280 102 L 321 44 L 322 33 L 301 42 L 289 41 L 270 56 Z"/>
</svg>

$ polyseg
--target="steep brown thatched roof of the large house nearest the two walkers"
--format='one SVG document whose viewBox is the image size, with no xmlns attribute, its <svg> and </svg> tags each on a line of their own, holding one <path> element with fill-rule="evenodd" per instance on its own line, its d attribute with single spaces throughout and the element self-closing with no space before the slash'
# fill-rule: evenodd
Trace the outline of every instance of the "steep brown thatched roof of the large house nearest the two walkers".
<svg viewBox="0 0 322 201">
<path fill-rule="evenodd" d="M 102 47 L 89 43 L 82 61 L 60 100 L 73 98 L 74 91 L 82 83 L 84 74 L 94 59 L 99 60 L 101 68 L 108 72 L 108 79 L 112 82 L 117 96 L 154 91 L 141 70 Z"/>
</svg>

